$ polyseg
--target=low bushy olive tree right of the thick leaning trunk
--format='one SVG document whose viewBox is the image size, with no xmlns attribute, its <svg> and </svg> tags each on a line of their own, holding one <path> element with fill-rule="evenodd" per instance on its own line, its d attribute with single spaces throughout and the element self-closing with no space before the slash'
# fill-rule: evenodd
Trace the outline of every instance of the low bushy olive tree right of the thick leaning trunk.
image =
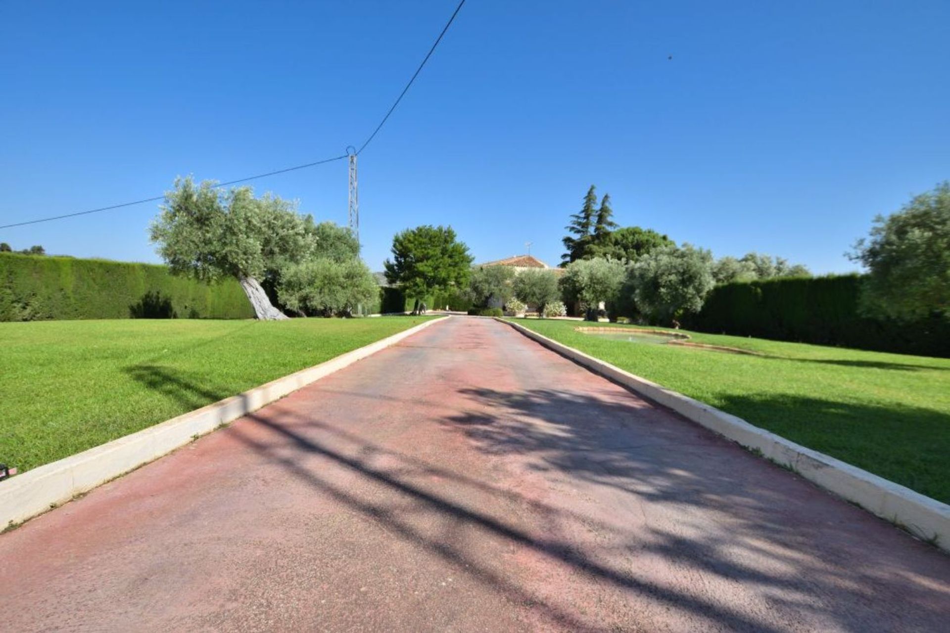
<svg viewBox="0 0 950 633">
<path fill-rule="evenodd" d="M 370 303 L 379 293 L 371 270 L 362 260 L 347 257 L 311 259 L 283 271 L 277 298 L 300 314 L 349 316 L 353 308 Z"/>
</svg>

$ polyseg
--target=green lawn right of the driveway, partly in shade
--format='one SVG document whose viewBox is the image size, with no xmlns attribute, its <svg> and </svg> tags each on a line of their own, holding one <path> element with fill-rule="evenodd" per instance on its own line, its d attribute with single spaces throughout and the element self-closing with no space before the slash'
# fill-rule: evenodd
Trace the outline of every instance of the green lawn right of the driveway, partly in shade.
<svg viewBox="0 0 950 633">
<path fill-rule="evenodd" d="M 756 426 L 950 503 L 950 360 L 687 332 L 764 356 L 517 323 Z M 610 326 L 599 324 L 599 326 Z M 622 327 L 622 326 L 621 326 Z"/>
</svg>

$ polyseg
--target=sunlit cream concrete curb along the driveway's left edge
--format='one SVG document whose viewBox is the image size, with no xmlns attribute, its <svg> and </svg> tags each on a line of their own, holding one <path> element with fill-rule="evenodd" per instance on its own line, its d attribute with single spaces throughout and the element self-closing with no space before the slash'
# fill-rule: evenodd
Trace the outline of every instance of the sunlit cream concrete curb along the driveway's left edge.
<svg viewBox="0 0 950 633">
<path fill-rule="evenodd" d="M 0 528 L 26 521 L 75 495 L 171 453 L 196 436 L 279 400 L 311 382 L 399 343 L 421 329 L 449 317 L 433 319 L 342 354 L 325 363 L 267 382 L 237 396 L 160 422 L 124 438 L 113 439 L 74 456 L 40 466 L 0 482 Z"/>
</svg>

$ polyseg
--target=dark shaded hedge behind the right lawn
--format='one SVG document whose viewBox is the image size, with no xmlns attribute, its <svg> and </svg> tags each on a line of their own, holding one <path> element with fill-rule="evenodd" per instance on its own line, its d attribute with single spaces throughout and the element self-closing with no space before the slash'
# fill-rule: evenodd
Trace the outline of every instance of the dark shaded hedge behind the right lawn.
<svg viewBox="0 0 950 633">
<path fill-rule="evenodd" d="M 950 320 L 901 323 L 864 317 L 857 274 L 778 278 L 712 289 L 684 326 L 701 332 L 950 357 Z"/>
</svg>

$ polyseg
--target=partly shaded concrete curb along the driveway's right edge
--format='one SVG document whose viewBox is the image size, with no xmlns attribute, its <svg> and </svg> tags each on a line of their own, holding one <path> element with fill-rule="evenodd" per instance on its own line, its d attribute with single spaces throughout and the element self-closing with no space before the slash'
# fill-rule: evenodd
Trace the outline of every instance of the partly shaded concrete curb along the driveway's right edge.
<svg viewBox="0 0 950 633">
<path fill-rule="evenodd" d="M 744 419 L 662 387 L 656 382 L 635 376 L 615 365 L 604 363 L 527 327 L 502 319 L 498 320 L 514 327 L 528 338 L 554 350 L 561 356 L 669 407 L 681 416 L 725 438 L 730 438 L 752 451 L 760 452 L 762 456 L 787 466 L 821 488 L 900 525 L 923 540 L 936 542 L 940 549 L 950 551 L 950 506 L 947 504 L 921 493 L 915 493 L 909 488 L 904 488 L 878 475 L 872 475 L 840 459 L 812 451 L 786 438 L 769 433 Z"/>
</svg>

